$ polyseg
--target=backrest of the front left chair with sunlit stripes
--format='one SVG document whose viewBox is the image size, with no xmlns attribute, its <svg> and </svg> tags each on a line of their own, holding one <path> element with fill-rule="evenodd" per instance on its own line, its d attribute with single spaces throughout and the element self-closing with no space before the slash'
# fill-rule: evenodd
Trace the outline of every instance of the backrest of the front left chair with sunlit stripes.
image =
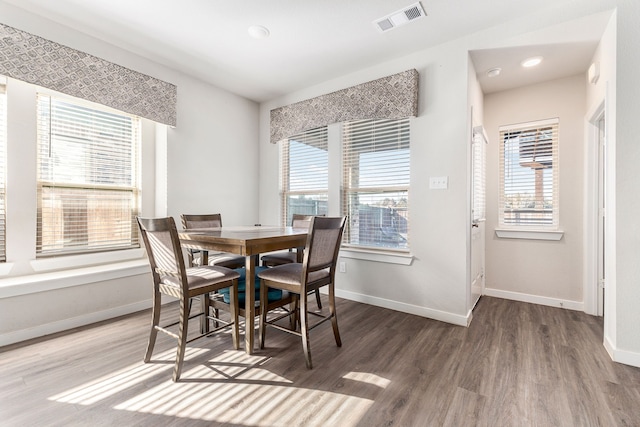
<svg viewBox="0 0 640 427">
<path fill-rule="evenodd" d="M 171 276 L 177 278 L 186 291 L 186 269 L 173 218 L 137 219 L 155 284 L 159 284 L 163 276 Z"/>
</svg>

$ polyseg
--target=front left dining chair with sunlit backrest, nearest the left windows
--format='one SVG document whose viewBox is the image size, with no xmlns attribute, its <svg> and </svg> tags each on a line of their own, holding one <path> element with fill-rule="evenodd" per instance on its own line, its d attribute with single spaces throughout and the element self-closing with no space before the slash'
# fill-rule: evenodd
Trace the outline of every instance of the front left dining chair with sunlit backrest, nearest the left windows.
<svg viewBox="0 0 640 427">
<path fill-rule="evenodd" d="M 238 338 L 238 278 L 240 275 L 231 269 L 219 266 L 185 266 L 178 230 L 172 217 L 137 218 L 142 240 L 149 257 L 151 275 L 153 277 L 153 310 L 151 316 L 151 333 L 144 362 L 151 360 L 153 347 L 158 331 L 164 332 L 178 340 L 176 361 L 173 369 L 173 381 L 178 381 L 182 372 L 182 364 L 187 343 L 198 338 L 209 336 L 223 328 L 231 327 L 233 347 L 239 348 Z M 229 288 L 230 302 L 226 306 L 231 318 L 227 322 L 209 315 L 209 293 Z M 161 296 L 169 295 L 180 301 L 180 312 L 177 322 L 160 326 Z M 202 298 L 202 311 L 196 316 L 204 316 L 204 331 L 187 340 L 189 326 L 189 308 L 191 298 Z M 215 327 L 209 330 L 209 320 L 214 320 Z M 176 334 L 169 328 L 178 325 Z"/>
</svg>

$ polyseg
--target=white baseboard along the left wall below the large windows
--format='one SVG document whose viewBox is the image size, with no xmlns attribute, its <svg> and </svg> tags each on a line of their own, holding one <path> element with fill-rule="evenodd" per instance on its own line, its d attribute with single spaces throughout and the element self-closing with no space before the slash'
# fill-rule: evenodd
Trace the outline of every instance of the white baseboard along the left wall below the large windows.
<svg viewBox="0 0 640 427">
<path fill-rule="evenodd" d="M 164 297 L 162 299 L 163 304 L 170 301 L 175 300 L 167 299 L 165 301 Z M 0 335 L 0 347 L 30 340 L 32 338 L 43 337 L 45 335 L 50 335 L 57 332 L 67 331 L 79 326 L 90 325 L 92 323 L 101 322 L 103 320 L 113 319 L 114 317 L 135 313 L 137 311 L 146 310 L 148 308 L 151 308 L 151 299 L 139 301 L 133 304 L 123 305 L 120 307 L 114 307 L 95 313 L 87 313 L 82 316 L 63 319 L 44 325 L 34 326 L 32 328 L 21 329 L 19 331 L 11 331 L 6 334 Z"/>
</svg>

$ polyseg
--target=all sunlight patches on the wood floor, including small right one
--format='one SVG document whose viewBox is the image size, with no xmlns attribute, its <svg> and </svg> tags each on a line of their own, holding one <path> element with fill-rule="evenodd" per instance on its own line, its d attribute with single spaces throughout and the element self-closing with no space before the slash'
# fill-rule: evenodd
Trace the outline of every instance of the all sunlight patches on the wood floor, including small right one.
<svg viewBox="0 0 640 427">
<path fill-rule="evenodd" d="M 187 349 L 178 383 L 171 381 L 175 353 L 166 351 L 154 356 L 156 363 L 132 365 L 49 400 L 91 405 L 145 383 L 151 384 L 149 388 L 113 409 L 246 426 L 356 425 L 373 404 L 373 400 L 350 395 L 334 383 L 321 384 L 318 389 L 296 387 L 263 367 L 269 358 L 242 351 L 225 351 L 195 366 L 188 363 L 205 351 Z M 153 377 L 160 379 L 154 381 Z M 380 389 L 389 384 L 366 372 L 350 372 L 343 379 Z"/>
</svg>

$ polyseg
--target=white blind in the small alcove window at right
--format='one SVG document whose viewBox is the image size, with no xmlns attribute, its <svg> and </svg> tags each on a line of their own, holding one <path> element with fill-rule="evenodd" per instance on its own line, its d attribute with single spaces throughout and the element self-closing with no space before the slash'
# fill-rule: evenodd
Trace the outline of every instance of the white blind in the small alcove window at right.
<svg viewBox="0 0 640 427">
<path fill-rule="evenodd" d="M 558 119 L 500 128 L 503 227 L 557 228 Z"/>
</svg>

